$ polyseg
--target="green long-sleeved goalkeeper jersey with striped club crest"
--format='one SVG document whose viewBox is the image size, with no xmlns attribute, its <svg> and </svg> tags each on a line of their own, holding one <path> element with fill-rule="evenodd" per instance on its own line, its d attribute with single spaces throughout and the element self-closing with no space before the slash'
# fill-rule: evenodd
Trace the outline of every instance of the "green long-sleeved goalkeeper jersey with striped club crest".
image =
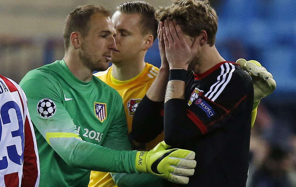
<svg viewBox="0 0 296 187">
<path fill-rule="evenodd" d="M 137 173 L 136 151 L 117 151 L 131 145 L 116 90 L 95 76 L 78 80 L 64 60 L 31 70 L 20 86 L 35 128 L 40 186 L 87 186 L 90 170 Z"/>
</svg>

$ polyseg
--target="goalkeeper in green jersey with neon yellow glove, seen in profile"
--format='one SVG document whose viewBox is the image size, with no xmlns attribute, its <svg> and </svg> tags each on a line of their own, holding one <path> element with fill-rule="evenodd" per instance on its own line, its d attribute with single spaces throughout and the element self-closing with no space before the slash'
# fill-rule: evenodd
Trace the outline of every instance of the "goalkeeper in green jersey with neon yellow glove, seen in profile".
<svg viewBox="0 0 296 187">
<path fill-rule="evenodd" d="M 116 49 L 110 15 L 102 6 L 77 7 L 65 22 L 64 59 L 20 82 L 36 132 L 40 186 L 87 186 L 90 170 L 152 173 L 186 184 L 194 152 L 164 142 L 151 151 L 120 151 L 131 150 L 122 99 L 92 76 L 107 69 Z"/>
</svg>

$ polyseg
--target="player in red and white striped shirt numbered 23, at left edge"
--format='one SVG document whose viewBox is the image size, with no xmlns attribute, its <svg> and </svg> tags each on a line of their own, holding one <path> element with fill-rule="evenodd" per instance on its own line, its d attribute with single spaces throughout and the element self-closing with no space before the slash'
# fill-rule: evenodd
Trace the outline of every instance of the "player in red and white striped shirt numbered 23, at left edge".
<svg viewBox="0 0 296 187">
<path fill-rule="evenodd" d="M 0 75 L 0 186 L 38 186 L 39 157 L 24 91 Z"/>
</svg>

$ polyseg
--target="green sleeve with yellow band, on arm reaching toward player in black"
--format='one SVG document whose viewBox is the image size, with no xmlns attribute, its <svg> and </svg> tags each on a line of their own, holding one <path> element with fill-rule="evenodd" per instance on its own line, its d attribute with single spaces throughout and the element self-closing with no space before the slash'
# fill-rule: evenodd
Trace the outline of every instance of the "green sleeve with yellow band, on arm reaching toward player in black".
<svg viewBox="0 0 296 187">
<path fill-rule="evenodd" d="M 29 72 L 20 82 L 28 98 L 30 117 L 54 151 L 71 167 L 117 173 L 137 173 L 136 151 L 117 151 L 81 140 L 75 125 L 62 104 L 62 92 L 53 75 Z M 41 99 L 54 101 L 52 117 L 41 117 L 37 104 Z"/>
</svg>

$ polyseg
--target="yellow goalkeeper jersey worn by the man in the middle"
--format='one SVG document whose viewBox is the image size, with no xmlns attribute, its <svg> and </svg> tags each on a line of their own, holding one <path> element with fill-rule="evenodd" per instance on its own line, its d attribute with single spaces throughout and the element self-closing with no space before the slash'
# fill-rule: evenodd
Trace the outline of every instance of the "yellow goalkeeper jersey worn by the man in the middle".
<svg viewBox="0 0 296 187">
<path fill-rule="evenodd" d="M 144 70 L 142 70 L 139 75 L 126 81 L 116 80 L 112 76 L 111 72 L 112 66 L 110 66 L 106 71 L 97 72 L 94 75 L 117 90 L 122 97 L 128 123 L 128 135 L 130 139 L 133 115 L 137 109 L 138 104 L 155 80 L 158 73 L 158 68 L 146 63 Z M 137 144 L 134 142 L 133 148 L 137 150 L 151 150 L 160 141 L 163 141 L 163 132 L 147 144 Z M 110 173 L 91 171 L 89 186 L 114 187 L 116 184 L 114 183 Z"/>
</svg>

